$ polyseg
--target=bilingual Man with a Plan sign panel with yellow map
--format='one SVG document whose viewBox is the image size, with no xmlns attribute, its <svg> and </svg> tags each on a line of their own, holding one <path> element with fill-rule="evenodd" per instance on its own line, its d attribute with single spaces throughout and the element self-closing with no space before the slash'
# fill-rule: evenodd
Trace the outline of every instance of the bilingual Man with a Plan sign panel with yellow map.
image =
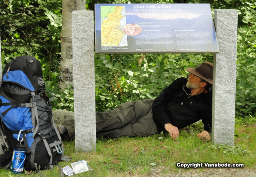
<svg viewBox="0 0 256 177">
<path fill-rule="evenodd" d="M 219 53 L 209 4 L 95 4 L 96 53 Z"/>
</svg>

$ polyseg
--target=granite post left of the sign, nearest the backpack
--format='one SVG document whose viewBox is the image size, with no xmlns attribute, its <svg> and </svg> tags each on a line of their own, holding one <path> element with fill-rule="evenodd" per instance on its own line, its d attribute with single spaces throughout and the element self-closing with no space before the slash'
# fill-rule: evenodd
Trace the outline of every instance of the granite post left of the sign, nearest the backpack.
<svg viewBox="0 0 256 177">
<path fill-rule="evenodd" d="M 72 12 L 76 151 L 96 150 L 93 11 Z"/>
</svg>

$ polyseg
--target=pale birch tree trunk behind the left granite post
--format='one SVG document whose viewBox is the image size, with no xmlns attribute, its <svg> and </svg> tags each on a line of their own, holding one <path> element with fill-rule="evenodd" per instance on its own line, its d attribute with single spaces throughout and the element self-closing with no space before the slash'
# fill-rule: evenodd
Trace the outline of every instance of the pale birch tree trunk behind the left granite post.
<svg viewBox="0 0 256 177">
<path fill-rule="evenodd" d="M 71 14 L 75 10 L 85 10 L 85 4 L 86 0 L 62 0 L 60 89 L 67 87 L 68 83 L 73 86 Z"/>
</svg>

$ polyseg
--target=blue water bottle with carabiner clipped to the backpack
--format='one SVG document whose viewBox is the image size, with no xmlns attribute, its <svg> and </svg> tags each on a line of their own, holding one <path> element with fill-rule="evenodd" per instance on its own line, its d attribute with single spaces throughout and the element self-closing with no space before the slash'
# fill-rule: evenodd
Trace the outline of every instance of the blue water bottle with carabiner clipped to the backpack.
<svg viewBox="0 0 256 177">
<path fill-rule="evenodd" d="M 20 133 L 21 133 L 21 131 L 22 130 L 20 130 Z M 24 162 L 25 162 L 25 158 L 26 158 L 26 154 L 27 154 L 26 146 L 21 144 L 23 138 L 21 140 L 19 140 L 20 133 L 19 133 L 18 139 L 17 139 L 20 143 L 18 143 L 16 148 L 13 150 L 12 164 L 11 164 L 11 171 L 16 174 L 23 172 L 23 166 L 24 166 Z"/>
</svg>

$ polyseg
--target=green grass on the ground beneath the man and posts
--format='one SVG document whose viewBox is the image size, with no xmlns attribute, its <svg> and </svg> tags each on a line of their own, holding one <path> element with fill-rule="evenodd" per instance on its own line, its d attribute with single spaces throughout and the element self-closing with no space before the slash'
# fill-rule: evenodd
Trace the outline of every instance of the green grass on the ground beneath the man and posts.
<svg viewBox="0 0 256 177">
<path fill-rule="evenodd" d="M 256 124 L 256 123 L 250 123 Z M 202 132 L 203 124 L 193 124 L 183 128 L 176 141 L 169 134 L 157 134 L 149 137 L 98 138 L 96 152 L 75 153 L 75 141 L 65 142 L 65 154 L 72 157 L 71 162 L 60 162 L 61 167 L 72 162 L 85 160 L 93 169 L 74 176 L 127 176 L 127 175 L 163 175 L 190 170 L 177 168 L 177 162 L 183 163 L 244 163 L 245 167 L 256 169 L 256 129 L 255 125 L 235 124 L 235 146 L 213 145 L 203 142 L 196 134 Z M 203 168 L 199 169 L 200 171 Z M 45 176 L 59 176 L 59 168 L 45 170 Z M 0 170 L 0 176 L 14 175 L 9 170 Z M 24 174 L 23 174 L 24 175 Z M 39 176 L 33 172 L 32 176 Z"/>
</svg>

